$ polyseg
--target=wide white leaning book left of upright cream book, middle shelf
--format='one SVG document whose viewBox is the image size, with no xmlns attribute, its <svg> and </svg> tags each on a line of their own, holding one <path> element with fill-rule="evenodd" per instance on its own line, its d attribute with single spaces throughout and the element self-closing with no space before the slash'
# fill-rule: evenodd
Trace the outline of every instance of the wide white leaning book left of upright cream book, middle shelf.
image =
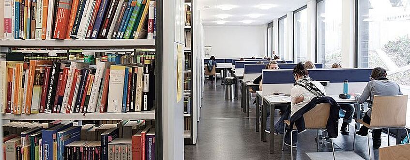
<svg viewBox="0 0 410 160">
<path fill-rule="evenodd" d="M 91 87 L 90 102 L 88 103 L 87 112 L 95 112 L 97 108 L 98 96 L 100 95 L 101 81 L 106 75 L 106 69 L 112 63 L 98 62 L 97 69 L 95 70 L 94 84 Z M 98 110 L 99 111 L 99 110 Z"/>
</svg>

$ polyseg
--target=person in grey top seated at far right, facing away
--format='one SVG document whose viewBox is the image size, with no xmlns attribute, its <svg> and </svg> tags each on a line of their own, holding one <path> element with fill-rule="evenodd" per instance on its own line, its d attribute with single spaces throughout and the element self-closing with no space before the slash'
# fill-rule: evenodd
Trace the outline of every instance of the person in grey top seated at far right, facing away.
<svg viewBox="0 0 410 160">
<path fill-rule="evenodd" d="M 355 99 L 357 103 L 364 103 L 369 97 L 370 102 L 373 101 L 373 97 L 375 95 L 379 96 L 397 96 L 403 95 L 400 90 L 400 86 L 389 79 L 386 78 L 386 70 L 381 67 L 376 67 L 372 70 L 372 74 L 370 77 L 370 81 L 367 83 L 366 87 L 364 87 L 364 91 L 362 95 L 356 95 Z M 354 95 L 354 94 L 353 94 Z M 369 104 L 371 106 L 371 103 Z M 389 106 L 386 106 L 389 107 Z M 370 124 L 370 117 L 372 113 L 372 108 L 369 107 L 369 111 L 364 114 L 363 121 L 367 124 Z M 391 115 L 395 116 L 395 115 Z M 361 136 L 367 136 L 367 130 L 369 128 L 362 126 L 356 134 Z M 381 145 L 381 129 L 374 129 L 373 130 L 373 148 L 379 149 Z"/>
</svg>

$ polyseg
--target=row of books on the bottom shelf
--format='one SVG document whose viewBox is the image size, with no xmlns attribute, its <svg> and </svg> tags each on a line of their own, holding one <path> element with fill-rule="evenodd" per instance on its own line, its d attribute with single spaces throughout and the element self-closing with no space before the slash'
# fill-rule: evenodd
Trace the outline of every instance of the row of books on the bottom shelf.
<svg viewBox="0 0 410 160">
<path fill-rule="evenodd" d="M 127 124 L 138 125 L 131 132 Z M 22 126 L 25 129 L 22 129 Z M 77 126 L 72 121 L 50 123 L 11 122 L 3 137 L 4 160 L 155 160 L 155 128 L 144 120 L 122 120 L 118 124 L 97 128 L 98 140 L 84 140 L 84 132 L 92 125 Z M 130 126 L 130 125 L 129 125 Z M 131 125 L 132 126 L 132 125 Z M 104 128 L 103 128 L 104 127 Z M 100 129 L 103 128 L 103 129 Z M 21 129 L 20 133 L 9 130 Z M 121 135 L 127 132 L 127 135 Z M 9 133 L 9 134 L 7 134 Z"/>
</svg>

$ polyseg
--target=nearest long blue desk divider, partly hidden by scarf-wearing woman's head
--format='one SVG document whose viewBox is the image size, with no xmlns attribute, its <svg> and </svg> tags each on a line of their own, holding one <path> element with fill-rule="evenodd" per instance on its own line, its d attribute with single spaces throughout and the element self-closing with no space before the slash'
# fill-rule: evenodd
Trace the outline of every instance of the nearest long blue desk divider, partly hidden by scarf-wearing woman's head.
<svg viewBox="0 0 410 160">
<path fill-rule="evenodd" d="M 371 68 L 351 68 L 351 69 L 311 69 L 309 77 L 312 80 L 330 81 L 332 83 L 343 82 L 367 82 L 369 81 Z M 283 84 L 294 83 L 293 70 L 264 70 L 263 84 Z"/>
</svg>

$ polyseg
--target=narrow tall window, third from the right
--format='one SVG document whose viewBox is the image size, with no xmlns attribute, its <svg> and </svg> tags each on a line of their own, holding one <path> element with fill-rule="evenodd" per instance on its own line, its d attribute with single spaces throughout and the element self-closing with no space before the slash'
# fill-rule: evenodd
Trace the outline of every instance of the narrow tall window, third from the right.
<svg viewBox="0 0 410 160">
<path fill-rule="evenodd" d="M 295 62 L 307 59 L 307 6 L 293 13 L 293 54 Z"/>
</svg>

